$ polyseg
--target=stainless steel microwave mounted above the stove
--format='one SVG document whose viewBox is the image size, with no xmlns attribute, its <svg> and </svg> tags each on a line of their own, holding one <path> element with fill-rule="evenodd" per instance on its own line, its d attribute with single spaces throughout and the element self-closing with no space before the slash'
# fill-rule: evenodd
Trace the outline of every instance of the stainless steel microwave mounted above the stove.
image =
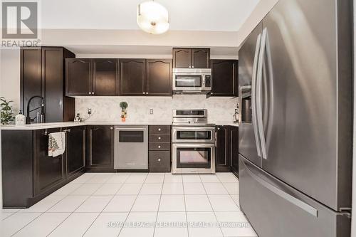
<svg viewBox="0 0 356 237">
<path fill-rule="evenodd" d="M 209 93 L 211 68 L 173 68 L 174 93 Z"/>
</svg>

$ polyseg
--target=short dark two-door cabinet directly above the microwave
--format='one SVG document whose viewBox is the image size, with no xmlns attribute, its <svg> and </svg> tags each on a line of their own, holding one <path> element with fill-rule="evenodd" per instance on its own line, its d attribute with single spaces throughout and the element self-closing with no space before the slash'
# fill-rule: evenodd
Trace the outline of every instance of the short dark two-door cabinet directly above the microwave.
<svg viewBox="0 0 356 237">
<path fill-rule="evenodd" d="M 210 68 L 210 49 L 173 48 L 173 68 Z"/>
</svg>

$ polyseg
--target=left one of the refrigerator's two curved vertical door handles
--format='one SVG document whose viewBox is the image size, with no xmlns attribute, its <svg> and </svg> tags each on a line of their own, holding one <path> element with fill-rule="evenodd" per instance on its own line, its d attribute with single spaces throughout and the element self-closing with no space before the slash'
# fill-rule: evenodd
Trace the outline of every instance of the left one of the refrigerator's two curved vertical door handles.
<svg viewBox="0 0 356 237">
<path fill-rule="evenodd" d="M 258 136 L 257 111 L 256 111 L 256 79 L 257 79 L 256 77 L 257 77 L 257 70 L 258 70 L 258 55 L 260 53 L 260 48 L 261 48 L 261 33 L 258 34 L 257 36 L 255 57 L 253 58 L 253 70 L 252 70 L 252 81 L 251 81 L 252 125 L 253 125 L 253 132 L 255 134 L 258 157 L 261 157 L 261 143 L 260 143 L 260 137 Z M 242 107 L 242 96 L 240 96 L 240 98 L 241 98 L 240 107 Z M 240 117 L 242 117 L 241 114 Z"/>
</svg>

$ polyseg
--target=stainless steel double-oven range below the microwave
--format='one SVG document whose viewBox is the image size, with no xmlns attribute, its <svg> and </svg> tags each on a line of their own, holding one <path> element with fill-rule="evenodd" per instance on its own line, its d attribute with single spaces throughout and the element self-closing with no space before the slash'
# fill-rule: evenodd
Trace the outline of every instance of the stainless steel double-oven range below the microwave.
<svg viewBox="0 0 356 237">
<path fill-rule="evenodd" d="M 206 111 L 196 114 L 190 116 L 206 116 Z M 182 122 L 182 118 L 178 121 Z M 173 125 L 172 173 L 215 173 L 215 126 Z"/>
</svg>

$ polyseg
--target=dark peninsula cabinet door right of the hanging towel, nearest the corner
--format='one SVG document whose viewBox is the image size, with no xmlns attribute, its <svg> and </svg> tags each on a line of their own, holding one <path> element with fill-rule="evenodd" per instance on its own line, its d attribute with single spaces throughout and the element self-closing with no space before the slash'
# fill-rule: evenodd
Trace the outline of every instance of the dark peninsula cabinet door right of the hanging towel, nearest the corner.
<svg viewBox="0 0 356 237">
<path fill-rule="evenodd" d="M 66 132 L 67 178 L 85 169 L 85 127 L 63 128 Z"/>
</svg>

